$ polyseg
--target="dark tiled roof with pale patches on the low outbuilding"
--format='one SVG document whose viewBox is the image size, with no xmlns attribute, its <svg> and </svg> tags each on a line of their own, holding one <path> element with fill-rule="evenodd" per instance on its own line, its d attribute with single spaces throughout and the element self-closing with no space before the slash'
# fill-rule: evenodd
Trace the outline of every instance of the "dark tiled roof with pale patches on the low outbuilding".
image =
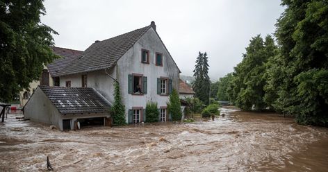
<svg viewBox="0 0 328 172">
<path fill-rule="evenodd" d="M 49 87 L 40 85 L 60 114 L 110 112 L 110 105 L 90 87 Z"/>
</svg>

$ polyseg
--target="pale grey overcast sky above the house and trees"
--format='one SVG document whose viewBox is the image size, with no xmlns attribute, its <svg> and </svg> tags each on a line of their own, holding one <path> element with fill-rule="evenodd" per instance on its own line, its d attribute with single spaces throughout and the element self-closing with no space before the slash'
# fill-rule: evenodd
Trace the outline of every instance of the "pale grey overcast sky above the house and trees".
<svg viewBox="0 0 328 172">
<path fill-rule="evenodd" d="M 211 80 L 233 71 L 249 40 L 274 33 L 284 11 L 279 0 L 226 1 L 81 1 L 46 0 L 42 23 L 59 35 L 56 46 L 84 51 L 152 20 L 156 31 L 181 69 L 192 76 L 198 51 L 208 53 Z"/>
</svg>

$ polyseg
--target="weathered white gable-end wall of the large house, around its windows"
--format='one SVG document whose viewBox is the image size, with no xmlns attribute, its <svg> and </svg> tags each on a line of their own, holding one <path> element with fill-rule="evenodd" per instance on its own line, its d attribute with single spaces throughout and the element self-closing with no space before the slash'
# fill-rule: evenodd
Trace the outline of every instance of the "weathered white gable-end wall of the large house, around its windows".
<svg viewBox="0 0 328 172">
<path fill-rule="evenodd" d="M 149 64 L 141 62 L 142 49 L 149 50 Z M 163 67 L 156 66 L 155 53 L 163 53 Z M 147 94 L 132 95 L 128 93 L 128 75 L 143 74 L 147 76 Z M 147 101 L 158 103 L 158 108 L 166 106 L 168 96 L 157 94 L 157 78 L 172 79 L 172 87 L 179 92 L 179 69 L 174 64 L 170 54 L 166 51 L 158 35 L 150 28 L 136 44 L 117 61 L 117 80 L 120 82 L 123 103 L 126 108 L 126 122 L 128 110 L 132 107 L 146 107 Z"/>
</svg>

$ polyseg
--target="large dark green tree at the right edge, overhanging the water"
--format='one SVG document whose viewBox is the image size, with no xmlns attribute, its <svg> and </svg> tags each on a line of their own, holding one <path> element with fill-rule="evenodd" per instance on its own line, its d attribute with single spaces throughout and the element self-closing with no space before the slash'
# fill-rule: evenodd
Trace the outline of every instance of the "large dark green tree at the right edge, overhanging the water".
<svg viewBox="0 0 328 172">
<path fill-rule="evenodd" d="M 323 91 L 328 87 L 328 1 L 285 0 L 282 4 L 286 10 L 275 33 L 281 65 L 273 68 L 281 71 L 281 84 L 274 105 L 295 114 L 299 123 L 328 126 L 328 98 Z"/>
</svg>

